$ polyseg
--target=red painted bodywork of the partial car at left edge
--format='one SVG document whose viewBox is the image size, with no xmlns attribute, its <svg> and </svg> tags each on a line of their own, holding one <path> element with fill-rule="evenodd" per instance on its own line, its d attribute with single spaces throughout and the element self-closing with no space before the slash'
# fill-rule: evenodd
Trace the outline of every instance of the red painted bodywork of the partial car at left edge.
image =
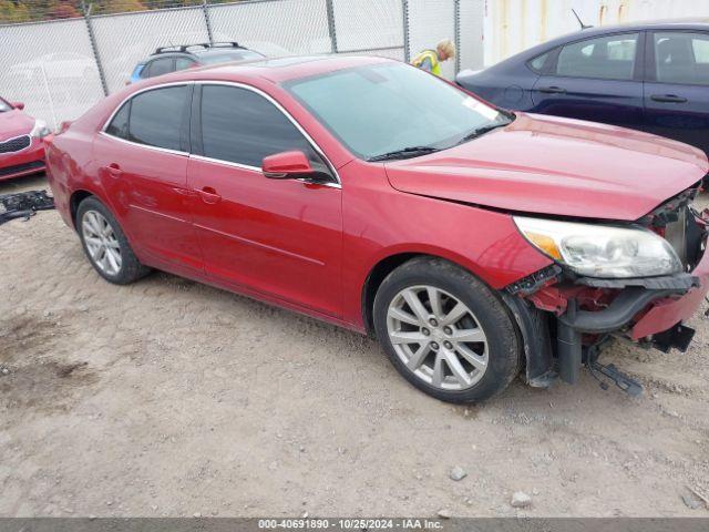
<svg viewBox="0 0 709 532">
<path fill-rule="evenodd" d="M 20 109 L 0 113 L 0 143 L 22 135 L 29 135 L 34 126 L 34 119 Z M 17 152 L 0 153 L 0 181 L 20 177 L 44 171 L 44 140 L 31 139 L 28 147 Z"/>
</svg>

